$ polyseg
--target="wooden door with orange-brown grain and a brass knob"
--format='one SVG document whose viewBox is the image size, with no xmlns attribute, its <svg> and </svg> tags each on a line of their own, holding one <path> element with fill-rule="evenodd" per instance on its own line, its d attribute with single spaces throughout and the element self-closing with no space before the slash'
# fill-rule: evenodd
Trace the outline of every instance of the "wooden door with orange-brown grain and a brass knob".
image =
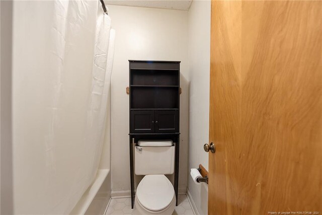
<svg viewBox="0 0 322 215">
<path fill-rule="evenodd" d="M 212 2 L 209 214 L 322 213 L 321 62 L 321 1 Z"/>
</svg>

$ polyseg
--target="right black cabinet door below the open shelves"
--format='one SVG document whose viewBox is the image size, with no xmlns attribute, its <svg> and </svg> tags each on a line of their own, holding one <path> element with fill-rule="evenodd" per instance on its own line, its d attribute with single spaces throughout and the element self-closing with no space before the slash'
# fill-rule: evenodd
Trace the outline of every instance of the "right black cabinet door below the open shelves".
<svg viewBox="0 0 322 215">
<path fill-rule="evenodd" d="M 155 133 L 179 132 L 178 110 L 155 111 Z"/>
</svg>

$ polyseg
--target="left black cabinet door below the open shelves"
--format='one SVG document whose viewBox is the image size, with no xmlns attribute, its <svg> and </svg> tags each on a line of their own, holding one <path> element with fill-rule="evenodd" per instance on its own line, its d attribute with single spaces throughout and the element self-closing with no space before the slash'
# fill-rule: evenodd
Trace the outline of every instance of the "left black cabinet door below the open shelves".
<svg viewBox="0 0 322 215">
<path fill-rule="evenodd" d="M 154 111 L 131 111 L 132 133 L 154 132 Z"/>
</svg>

